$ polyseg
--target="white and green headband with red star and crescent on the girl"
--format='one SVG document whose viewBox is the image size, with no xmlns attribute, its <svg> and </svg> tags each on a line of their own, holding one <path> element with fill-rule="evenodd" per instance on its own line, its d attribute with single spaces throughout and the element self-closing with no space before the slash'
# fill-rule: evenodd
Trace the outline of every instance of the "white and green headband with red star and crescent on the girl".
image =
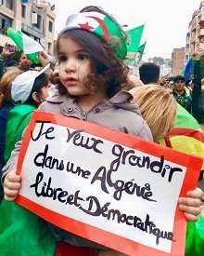
<svg viewBox="0 0 204 256">
<path fill-rule="evenodd" d="M 121 33 L 120 27 L 113 20 L 110 20 L 108 16 L 98 12 L 72 14 L 60 34 L 76 28 L 96 34 L 96 36 L 104 39 L 113 47 L 116 46 L 115 53 L 121 60 L 125 58 L 127 54 L 125 38 Z"/>
</svg>

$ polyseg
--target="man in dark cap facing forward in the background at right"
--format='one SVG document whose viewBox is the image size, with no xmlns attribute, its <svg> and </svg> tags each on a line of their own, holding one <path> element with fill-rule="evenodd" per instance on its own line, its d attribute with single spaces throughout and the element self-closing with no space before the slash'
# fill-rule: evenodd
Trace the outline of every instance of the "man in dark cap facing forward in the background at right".
<svg viewBox="0 0 204 256">
<path fill-rule="evenodd" d="M 173 78 L 172 95 L 175 100 L 182 105 L 187 112 L 192 113 L 192 98 L 190 92 L 185 89 L 185 77 L 176 75 Z"/>
</svg>

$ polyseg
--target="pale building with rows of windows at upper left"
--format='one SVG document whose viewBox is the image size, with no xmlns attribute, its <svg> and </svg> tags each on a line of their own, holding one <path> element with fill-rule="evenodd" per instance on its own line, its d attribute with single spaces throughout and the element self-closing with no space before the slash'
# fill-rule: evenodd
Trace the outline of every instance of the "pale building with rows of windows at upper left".
<svg viewBox="0 0 204 256">
<path fill-rule="evenodd" d="M 14 44 L 6 36 L 6 29 L 12 27 L 32 37 L 48 54 L 53 55 L 56 20 L 54 8 L 48 1 L 0 0 L 0 50 L 6 42 Z"/>
</svg>

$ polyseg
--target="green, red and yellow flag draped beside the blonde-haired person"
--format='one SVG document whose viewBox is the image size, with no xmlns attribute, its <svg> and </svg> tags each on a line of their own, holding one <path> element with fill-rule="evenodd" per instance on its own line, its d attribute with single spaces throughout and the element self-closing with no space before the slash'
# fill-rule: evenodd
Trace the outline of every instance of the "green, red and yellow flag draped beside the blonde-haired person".
<svg viewBox="0 0 204 256">
<path fill-rule="evenodd" d="M 177 116 L 172 128 L 159 143 L 172 149 L 204 158 L 204 135 L 197 120 L 177 103 Z M 202 169 L 204 168 L 204 162 Z"/>
</svg>

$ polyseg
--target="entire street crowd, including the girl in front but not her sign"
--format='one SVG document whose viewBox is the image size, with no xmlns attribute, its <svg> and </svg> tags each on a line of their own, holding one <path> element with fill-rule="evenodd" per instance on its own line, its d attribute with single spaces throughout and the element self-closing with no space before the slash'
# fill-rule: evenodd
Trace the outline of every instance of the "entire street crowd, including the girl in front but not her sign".
<svg viewBox="0 0 204 256">
<path fill-rule="evenodd" d="M 105 20 L 103 26 L 87 25 L 101 17 Z M 79 20 L 86 26 L 79 26 Z M 4 224 L 0 224 L 1 255 L 124 255 L 46 222 L 15 203 L 23 179 L 16 173 L 19 150 L 33 112 L 77 118 L 161 144 L 177 128 L 178 119 L 185 116 L 183 127 L 188 128 L 193 122 L 204 142 L 199 61 L 202 51 L 195 56 L 192 90 L 185 86 L 181 75 L 173 78 L 171 88 L 168 79 L 160 79 L 159 66 L 154 63 L 141 65 L 139 77 L 131 74 L 124 62 L 126 39 L 117 20 L 102 8 L 91 6 L 71 15 L 57 35 L 54 68 L 50 67 L 53 63 L 49 63 L 45 52 L 39 52 L 39 67 L 32 66 L 24 53 L 18 64 L 6 67 L 6 59 L 13 52 L 8 44 L 3 48 L 0 54 L 0 220 L 4 219 Z M 200 148 L 197 155 L 203 157 L 204 149 Z M 185 150 L 182 146 L 175 149 L 195 154 L 187 145 Z M 204 230 L 201 184 L 202 169 L 198 187 L 178 198 L 179 209 L 188 221 L 186 256 L 202 255 L 204 236 L 198 232 Z"/>
</svg>

